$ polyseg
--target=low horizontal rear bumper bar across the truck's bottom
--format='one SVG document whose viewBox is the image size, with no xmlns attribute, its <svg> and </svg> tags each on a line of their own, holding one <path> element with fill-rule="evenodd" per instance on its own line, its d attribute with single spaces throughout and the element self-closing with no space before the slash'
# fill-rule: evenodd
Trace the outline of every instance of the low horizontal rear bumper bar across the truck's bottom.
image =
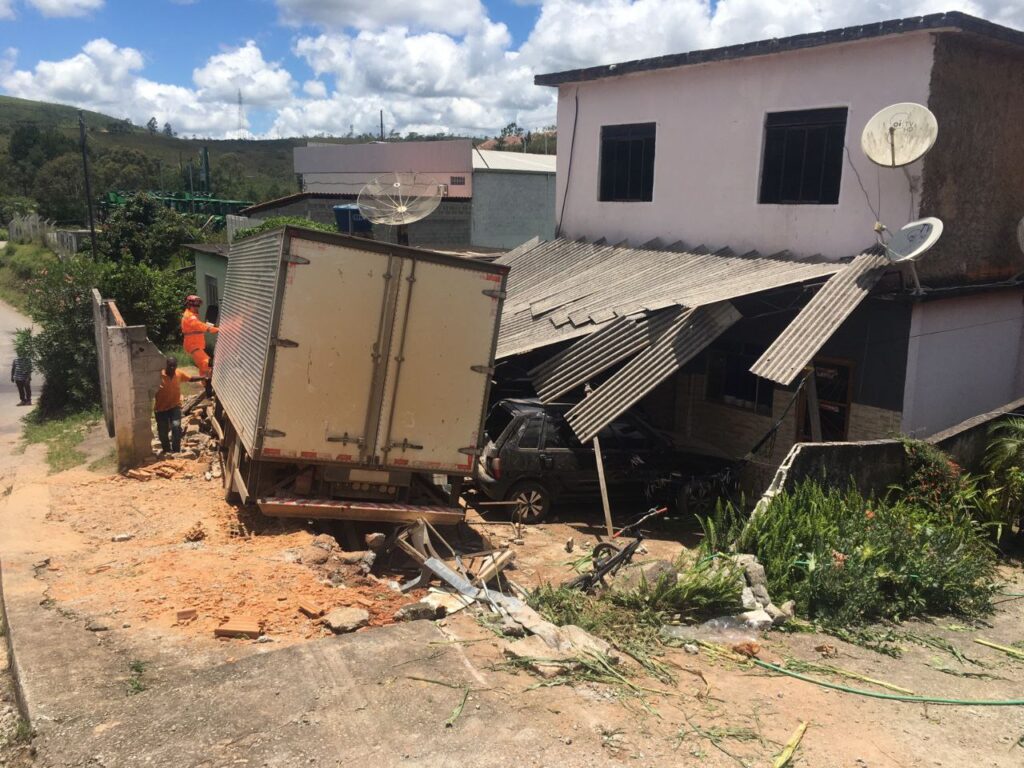
<svg viewBox="0 0 1024 768">
<path fill-rule="evenodd" d="M 267 517 L 301 517 L 310 520 L 360 520 L 366 522 L 416 522 L 431 525 L 455 525 L 466 516 L 461 507 L 428 504 L 388 504 L 342 501 L 339 499 L 301 499 L 270 497 L 256 505 Z"/>
</svg>

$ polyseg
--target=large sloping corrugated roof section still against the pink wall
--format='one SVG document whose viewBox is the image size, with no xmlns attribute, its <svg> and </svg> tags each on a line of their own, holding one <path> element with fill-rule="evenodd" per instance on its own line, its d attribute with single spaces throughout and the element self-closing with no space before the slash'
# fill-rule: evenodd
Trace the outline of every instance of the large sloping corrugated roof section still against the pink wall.
<svg viewBox="0 0 1024 768">
<path fill-rule="evenodd" d="M 506 254 L 512 267 L 498 356 L 587 336 L 616 317 L 693 308 L 826 278 L 836 262 L 706 248 L 631 248 L 558 239 Z"/>
</svg>

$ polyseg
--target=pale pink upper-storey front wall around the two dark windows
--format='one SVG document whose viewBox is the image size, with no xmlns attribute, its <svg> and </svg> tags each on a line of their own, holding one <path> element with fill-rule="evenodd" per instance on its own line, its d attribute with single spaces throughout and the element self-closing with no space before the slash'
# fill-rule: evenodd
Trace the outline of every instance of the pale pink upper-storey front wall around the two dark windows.
<svg viewBox="0 0 1024 768">
<path fill-rule="evenodd" d="M 883 106 L 927 103 L 932 61 L 931 35 L 904 34 L 563 85 L 556 211 L 567 180 L 571 188 L 561 230 L 638 245 L 657 237 L 737 251 L 858 253 L 874 242 L 876 217 L 846 161 L 836 206 L 758 204 L 765 115 L 849 108 L 853 166 L 871 206 L 881 194 L 882 220 L 899 226 L 916 217 L 920 195 L 911 199 L 901 170 L 880 169 L 863 156 L 860 132 Z M 657 124 L 653 202 L 598 202 L 601 126 L 644 122 Z M 916 181 L 921 165 L 907 167 Z"/>
</svg>

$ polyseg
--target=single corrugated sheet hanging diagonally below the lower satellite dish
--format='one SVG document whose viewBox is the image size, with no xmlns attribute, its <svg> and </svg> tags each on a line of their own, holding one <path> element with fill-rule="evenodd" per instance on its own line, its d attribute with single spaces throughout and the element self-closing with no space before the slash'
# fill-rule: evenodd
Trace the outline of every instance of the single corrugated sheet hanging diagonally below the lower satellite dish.
<svg viewBox="0 0 1024 768">
<path fill-rule="evenodd" d="M 800 310 L 751 367 L 751 373 L 788 386 L 882 278 L 892 262 L 877 251 L 860 254 Z"/>
</svg>

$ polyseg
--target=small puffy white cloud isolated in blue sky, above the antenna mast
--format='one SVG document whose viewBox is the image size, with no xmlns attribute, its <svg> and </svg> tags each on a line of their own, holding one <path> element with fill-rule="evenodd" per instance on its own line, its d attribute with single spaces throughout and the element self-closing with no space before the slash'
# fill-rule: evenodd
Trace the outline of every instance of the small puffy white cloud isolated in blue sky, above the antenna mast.
<svg viewBox="0 0 1024 768">
<path fill-rule="evenodd" d="M 204 101 L 234 101 L 239 91 L 247 104 L 268 106 L 287 102 L 295 88 L 292 75 L 280 62 L 267 62 L 252 40 L 241 48 L 211 56 L 193 71 L 193 82 Z"/>
</svg>

